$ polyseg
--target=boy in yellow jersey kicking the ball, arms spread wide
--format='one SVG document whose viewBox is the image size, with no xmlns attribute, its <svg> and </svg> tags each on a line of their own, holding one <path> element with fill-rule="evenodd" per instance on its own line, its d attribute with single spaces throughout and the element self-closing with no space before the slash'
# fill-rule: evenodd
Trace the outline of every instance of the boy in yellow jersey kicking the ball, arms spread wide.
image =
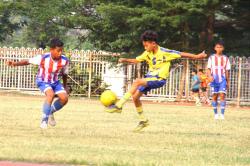
<svg viewBox="0 0 250 166">
<path fill-rule="evenodd" d="M 145 31 L 141 35 L 141 40 L 145 51 L 140 56 L 136 57 L 136 59 L 119 59 L 119 62 L 121 63 L 127 62 L 136 64 L 146 61 L 146 63 L 149 65 L 149 72 L 146 74 L 145 78 L 136 79 L 129 91 L 125 93 L 115 105 L 112 105 L 107 110 L 107 112 L 110 113 L 120 113 L 122 111 L 123 105 L 129 100 L 130 97 L 132 97 L 140 119 L 135 131 L 140 131 L 149 125 L 148 119 L 143 114 L 140 97 L 151 89 L 160 88 L 166 84 L 166 79 L 169 77 L 170 62 L 181 57 L 193 59 L 206 57 L 205 53 L 194 55 L 160 47 L 158 45 L 157 39 L 158 34 L 156 32 L 150 30 Z"/>
</svg>

